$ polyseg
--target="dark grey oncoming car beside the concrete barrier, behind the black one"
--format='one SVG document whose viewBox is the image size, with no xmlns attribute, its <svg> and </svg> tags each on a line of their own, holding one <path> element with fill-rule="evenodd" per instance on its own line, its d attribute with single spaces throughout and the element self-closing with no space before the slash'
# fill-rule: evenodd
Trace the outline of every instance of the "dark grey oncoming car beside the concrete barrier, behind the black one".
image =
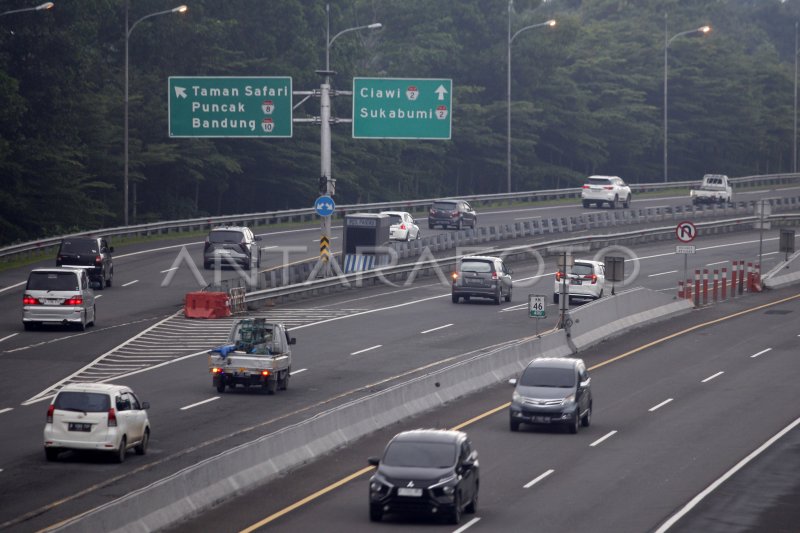
<svg viewBox="0 0 800 533">
<path fill-rule="evenodd" d="M 509 407 L 511 431 L 526 424 L 566 425 L 577 433 L 592 422 L 591 378 L 582 359 L 540 357 L 531 361 L 515 385 Z"/>
</svg>

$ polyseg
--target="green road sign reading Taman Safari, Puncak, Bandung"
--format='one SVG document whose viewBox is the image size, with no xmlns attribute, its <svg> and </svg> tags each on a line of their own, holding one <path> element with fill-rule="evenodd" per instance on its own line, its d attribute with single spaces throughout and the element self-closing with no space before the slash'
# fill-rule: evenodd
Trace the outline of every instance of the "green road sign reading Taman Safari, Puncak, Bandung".
<svg viewBox="0 0 800 533">
<path fill-rule="evenodd" d="M 170 137 L 291 137 L 292 78 L 169 78 Z"/>
</svg>

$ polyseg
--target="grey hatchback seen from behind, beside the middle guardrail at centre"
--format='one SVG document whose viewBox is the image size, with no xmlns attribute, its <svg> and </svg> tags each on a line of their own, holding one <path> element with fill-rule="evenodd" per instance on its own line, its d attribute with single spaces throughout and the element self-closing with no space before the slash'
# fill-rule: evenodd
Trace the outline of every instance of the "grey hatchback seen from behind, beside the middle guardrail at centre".
<svg viewBox="0 0 800 533">
<path fill-rule="evenodd" d="M 460 298 L 468 302 L 470 297 L 491 298 L 500 304 L 500 299 L 511 301 L 512 271 L 499 257 L 471 255 L 461 259 L 458 269 L 452 274 L 452 300 Z"/>
</svg>

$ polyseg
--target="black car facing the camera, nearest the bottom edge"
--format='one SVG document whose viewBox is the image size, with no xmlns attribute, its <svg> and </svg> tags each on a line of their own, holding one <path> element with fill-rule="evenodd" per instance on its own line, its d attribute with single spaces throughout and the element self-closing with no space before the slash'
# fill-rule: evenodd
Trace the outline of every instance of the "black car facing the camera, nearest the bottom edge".
<svg viewBox="0 0 800 533">
<path fill-rule="evenodd" d="M 417 429 L 389 441 L 369 480 L 369 518 L 420 513 L 461 522 L 478 508 L 478 452 L 463 431 Z"/>
</svg>

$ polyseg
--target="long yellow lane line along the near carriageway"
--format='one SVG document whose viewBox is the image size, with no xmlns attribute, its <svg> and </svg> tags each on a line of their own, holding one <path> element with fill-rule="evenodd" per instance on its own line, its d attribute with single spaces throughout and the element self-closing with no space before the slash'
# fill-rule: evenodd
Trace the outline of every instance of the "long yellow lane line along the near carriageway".
<svg viewBox="0 0 800 533">
<path fill-rule="evenodd" d="M 633 355 L 635 353 L 638 353 L 638 352 L 641 352 L 643 350 L 646 350 L 647 348 L 650 348 L 652 346 L 656 346 L 656 345 L 664 343 L 664 342 L 666 342 L 668 340 L 674 339 L 675 337 L 679 337 L 681 335 L 685 335 L 687 333 L 691 333 L 691 332 L 696 331 L 696 330 L 698 330 L 700 328 L 713 326 L 714 324 L 718 324 L 720 322 L 724 322 L 725 320 L 729 320 L 731 318 L 736 318 L 736 317 L 739 317 L 739 316 L 742 316 L 742 315 L 746 315 L 748 313 L 752 313 L 752 312 L 755 312 L 755 311 L 759 311 L 761 309 L 765 309 L 767 307 L 772 307 L 774 305 L 779 305 L 779 304 L 782 304 L 782 303 L 785 303 L 785 302 L 796 300 L 798 298 L 800 298 L 800 294 L 795 294 L 794 296 L 789 296 L 787 298 L 783 298 L 783 299 L 777 300 L 775 302 L 766 303 L 766 304 L 763 304 L 763 305 L 759 305 L 758 307 L 753 307 L 751 309 L 745 309 L 744 311 L 739 311 L 739 312 L 734 313 L 732 315 L 727 315 L 727 316 L 724 316 L 724 317 L 721 317 L 721 318 L 710 320 L 708 322 L 703 322 L 702 324 L 694 325 L 694 326 L 692 326 L 690 328 L 686 328 L 686 329 L 678 331 L 676 333 L 672 333 L 671 335 L 667 335 L 666 337 L 662 337 L 660 339 L 654 340 L 653 342 L 649 342 L 647 344 L 639 346 L 638 348 L 634 348 L 633 350 L 629 350 L 629 351 L 627 351 L 627 352 L 625 352 L 623 354 L 614 356 L 611 359 L 603 361 L 602 363 L 598 363 L 598 364 L 596 364 L 596 365 L 594 365 L 592 367 L 589 367 L 589 370 L 595 370 L 597 368 L 600 368 L 601 366 L 605 366 L 605 365 L 607 365 L 609 363 L 613 363 L 615 361 L 619 361 L 620 359 L 623 359 L 625 357 L 629 357 L 629 356 L 631 356 L 631 355 Z M 502 411 L 504 409 L 507 409 L 509 405 L 511 405 L 511 402 L 506 402 L 506 403 L 504 403 L 502 405 L 499 405 L 497 407 L 489 409 L 488 411 L 486 411 L 484 413 L 481 413 L 481 414 L 479 414 L 479 415 L 477 415 L 477 416 L 475 416 L 473 418 L 470 418 L 469 420 L 467 420 L 465 422 L 462 422 L 462 423 L 460 423 L 460 424 L 458 424 L 456 426 L 453 426 L 451 429 L 453 429 L 453 430 L 463 429 L 463 428 L 465 428 L 467 426 L 470 426 L 470 425 L 474 424 L 475 422 L 483 420 L 484 418 L 487 418 L 487 417 L 489 417 L 489 416 L 491 416 L 491 415 L 493 415 L 495 413 L 498 413 L 498 412 L 500 412 L 500 411 Z M 357 472 L 354 472 L 354 473 L 350 474 L 349 476 L 340 479 L 336 483 L 328 485 L 327 487 L 325 487 L 323 489 L 320 489 L 317 492 L 306 496 L 302 500 L 299 500 L 299 501 L 293 503 L 292 505 L 290 505 L 288 507 L 285 507 L 285 508 L 281 509 L 280 511 L 276 512 L 276 513 L 271 514 L 270 516 L 264 518 L 260 522 L 257 522 L 255 524 L 253 524 L 252 526 L 248 527 L 247 529 L 243 529 L 240 533 L 251 533 L 252 531 L 255 531 L 256 529 L 269 524 L 270 522 L 280 518 L 281 516 L 283 516 L 283 515 L 285 515 L 287 513 L 290 513 L 291 511 L 294 511 L 295 509 L 298 509 L 299 507 L 301 507 L 301 506 L 303 506 L 303 505 L 305 505 L 307 503 L 310 503 L 313 500 L 316 500 L 320 496 L 323 496 L 323 495 L 331 492 L 332 490 L 337 489 L 337 488 L 341 487 L 342 485 L 344 485 L 346 483 L 349 483 L 350 481 L 352 481 L 352 480 L 354 480 L 354 479 L 356 479 L 358 477 L 363 476 L 367 472 L 371 472 L 374 469 L 375 469 L 374 466 L 369 466 L 369 467 L 366 467 L 366 468 L 362 468 L 361 470 L 358 470 Z"/>
</svg>

